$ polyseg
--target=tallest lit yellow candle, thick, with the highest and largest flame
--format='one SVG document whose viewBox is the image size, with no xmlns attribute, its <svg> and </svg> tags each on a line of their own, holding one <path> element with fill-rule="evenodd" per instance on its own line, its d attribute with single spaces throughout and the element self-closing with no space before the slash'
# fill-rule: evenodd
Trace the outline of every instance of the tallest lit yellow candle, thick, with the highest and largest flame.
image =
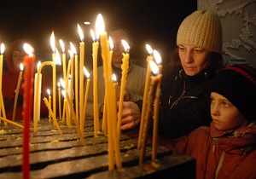
<svg viewBox="0 0 256 179">
<path fill-rule="evenodd" d="M 98 34 L 101 34 L 101 47 L 102 47 L 102 61 L 105 70 L 105 85 L 106 85 L 106 95 L 107 95 L 107 103 L 105 105 L 107 106 L 107 118 L 108 118 L 108 170 L 114 170 L 113 165 L 113 150 L 115 154 L 116 159 L 116 165 L 117 168 L 121 168 L 122 164 L 120 161 L 120 151 L 119 151 L 119 141 L 117 137 L 117 128 L 116 128 L 116 110 L 114 109 L 114 106 L 116 106 L 116 103 L 113 101 L 113 83 L 112 83 L 112 65 L 111 65 L 111 59 L 109 58 L 109 43 L 107 40 L 107 32 L 104 31 L 104 21 L 102 19 L 102 14 L 98 14 L 97 20 L 96 20 L 96 26 L 98 26 L 99 31 Z"/>
</svg>

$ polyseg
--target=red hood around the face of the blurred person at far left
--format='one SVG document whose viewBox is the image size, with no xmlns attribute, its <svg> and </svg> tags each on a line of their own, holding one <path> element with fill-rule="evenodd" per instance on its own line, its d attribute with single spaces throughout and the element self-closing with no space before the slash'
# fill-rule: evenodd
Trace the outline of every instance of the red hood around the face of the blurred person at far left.
<svg viewBox="0 0 256 179">
<path fill-rule="evenodd" d="M 15 50 L 23 50 L 23 44 L 26 43 L 25 41 L 22 40 L 16 40 L 15 42 L 11 43 L 9 46 L 9 49 L 7 51 L 7 55 L 6 55 L 6 64 L 7 64 L 7 68 L 9 72 L 13 72 L 13 73 L 19 73 L 15 70 L 14 68 L 14 63 L 13 63 L 13 52 Z"/>
</svg>

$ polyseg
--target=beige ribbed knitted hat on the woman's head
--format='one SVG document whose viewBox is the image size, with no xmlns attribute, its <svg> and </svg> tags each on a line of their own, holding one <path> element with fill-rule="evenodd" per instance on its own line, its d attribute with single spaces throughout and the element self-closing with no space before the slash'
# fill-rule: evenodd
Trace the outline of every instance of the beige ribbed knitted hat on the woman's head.
<svg viewBox="0 0 256 179">
<path fill-rule="evenodd" d="M 195 45 L 212 52 L 222 50 L 222 26 L 218 14 L 197 10 L 186 17 L 177 31 L 177 45 Z"/>
</svg>

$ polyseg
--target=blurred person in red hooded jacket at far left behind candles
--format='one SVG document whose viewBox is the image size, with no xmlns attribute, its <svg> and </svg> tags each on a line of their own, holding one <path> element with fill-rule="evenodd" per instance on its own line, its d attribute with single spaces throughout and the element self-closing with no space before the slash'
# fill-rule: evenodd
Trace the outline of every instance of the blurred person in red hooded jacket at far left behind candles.
<svg viewBox="0 0 256 179">
<path fill-rule="evenodd" d="M 3 72 L 3 84 L 2 84 L 2 92 L 3 92 L 3 101 L 6 112 L 6 118 L 9 120 L 12 119 L 14 103 L 15 103 L 15 90 L 18 83 L 18 78 L 20 74 L 20 63 L 23 62 L 23 58 L 26 55 L 26 52 L 23 49 L 23 44 L 26 43 L 23 40 L 17 40 L 9 46 L 6 56 L 6 63 L 8 67 L 7 72 Z M 36 63 L 35 63 L 36 64 Z M 36 69 L 36 67 L 35 67 Z M 24 66 L 24 71 L 26 70 L 26 66 Z M 23 71 L 23 74 L 24 74 Z M 36 72 L 36 71 L 35 71 Z M 24 89 L 21 87 L 24 83 L 24 79 L 22 78 L 20 83 L 20 90 L 18 95 L 15 119 L 22 119 L 22 110 L 23 110 L 23 93 Z M 50 78 L 42 73 L 42 93 L 46 94 L 46 89 L 50 89 L 52 86 L 52 82 Z M 48 109 L 45 107 L 44 101 L 41 101 L 41 117 L 48 116 Z"/>
</svg>

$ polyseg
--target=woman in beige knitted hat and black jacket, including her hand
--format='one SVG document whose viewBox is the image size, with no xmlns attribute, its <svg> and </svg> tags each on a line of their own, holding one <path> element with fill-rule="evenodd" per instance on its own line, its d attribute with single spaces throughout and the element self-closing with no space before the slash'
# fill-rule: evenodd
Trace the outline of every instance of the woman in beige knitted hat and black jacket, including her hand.
<svg viewBox="0 0 256 179">
<path fill-rule="evenodd" d="M 189 14 L 178 28 L 177 54 L 172 55 L 170 68 L 163 66 L 160 136 L 176 138 L 210 124 L 209 87 L 225 65 L 221 52 L 218 14 L 206 10 Z M 142 104 L 124 102 L 121 130 L 138 129 Z"/>
</svg>

